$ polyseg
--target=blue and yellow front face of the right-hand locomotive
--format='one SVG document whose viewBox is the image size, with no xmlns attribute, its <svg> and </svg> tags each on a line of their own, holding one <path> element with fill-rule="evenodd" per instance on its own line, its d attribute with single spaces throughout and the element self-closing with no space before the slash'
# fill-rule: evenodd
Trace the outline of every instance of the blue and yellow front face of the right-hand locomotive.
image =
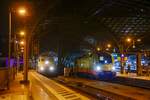
<svg viewBox="0 0 150 100">
<path fill-rule="evenodd" d="M 100 80 L 112 80 L 116 77 L 111 54 L 100 53 L 97 57 L 97 62 L 94 64 L 97 77 Z"/>
</svg>

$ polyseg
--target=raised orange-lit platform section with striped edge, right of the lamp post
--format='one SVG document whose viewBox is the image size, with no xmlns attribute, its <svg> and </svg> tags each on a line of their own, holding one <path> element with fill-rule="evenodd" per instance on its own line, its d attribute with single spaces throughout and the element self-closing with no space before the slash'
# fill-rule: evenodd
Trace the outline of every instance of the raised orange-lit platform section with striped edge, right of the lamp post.
<svg viewBox="0 0 150 100">
<path fill-rule="evenodd" d="M 30 72 L 29 76 L 34 100 L 90 100 L 88 97 L 34 71 Z"/>
</svg>

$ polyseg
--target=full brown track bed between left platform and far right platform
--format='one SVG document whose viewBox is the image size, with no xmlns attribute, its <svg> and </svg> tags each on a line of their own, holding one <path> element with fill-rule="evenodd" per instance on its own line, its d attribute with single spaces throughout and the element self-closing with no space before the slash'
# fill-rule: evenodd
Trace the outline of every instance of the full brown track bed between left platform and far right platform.
<svg viewBox="0 0 150 100">
<path fill-rule="evenodd" d="M 81 78 L 55 78 L 61 84 L 93 95 L 98 100 L 150 100 L 150 91 L 143 88 Z"/>
</svg>

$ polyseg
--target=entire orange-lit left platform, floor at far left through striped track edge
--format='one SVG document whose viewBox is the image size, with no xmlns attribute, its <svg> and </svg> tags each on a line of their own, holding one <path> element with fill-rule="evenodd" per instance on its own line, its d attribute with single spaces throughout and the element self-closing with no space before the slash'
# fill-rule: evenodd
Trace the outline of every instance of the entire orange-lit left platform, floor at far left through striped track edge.
<svg viewBox="0 0 150 100">
<path fill-rule="evenodd" d="M 35 71 L 29 72 L 29 84 L 20 84 L 22 78 L 18 73 L 10 89 L 0 91 L 0 100 L 90 100 Z"/>
</svg>

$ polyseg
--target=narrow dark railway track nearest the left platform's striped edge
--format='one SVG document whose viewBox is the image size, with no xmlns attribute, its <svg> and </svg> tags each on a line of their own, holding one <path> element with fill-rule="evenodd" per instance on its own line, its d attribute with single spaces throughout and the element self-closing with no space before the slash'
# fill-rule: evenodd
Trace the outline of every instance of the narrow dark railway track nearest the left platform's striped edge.
<svg viewBox="0 0 150 100">
<path fill-rule="evenodd" d="M 63 85 L 78 89 L 89 95 L 92 95 L 92 96 L 96 97 L 97 100 L 134 100 L 130 97 L 118 95 L 118 94 L 115 94 L 112 92 L 94 88 L 89 85 L 85 85 L 82 82 L 71 82 L 71 81 L 66 81 L 66 80 L 58 79 L 58 78 L 55 78 L 54 80 Z"/>
</svg>

